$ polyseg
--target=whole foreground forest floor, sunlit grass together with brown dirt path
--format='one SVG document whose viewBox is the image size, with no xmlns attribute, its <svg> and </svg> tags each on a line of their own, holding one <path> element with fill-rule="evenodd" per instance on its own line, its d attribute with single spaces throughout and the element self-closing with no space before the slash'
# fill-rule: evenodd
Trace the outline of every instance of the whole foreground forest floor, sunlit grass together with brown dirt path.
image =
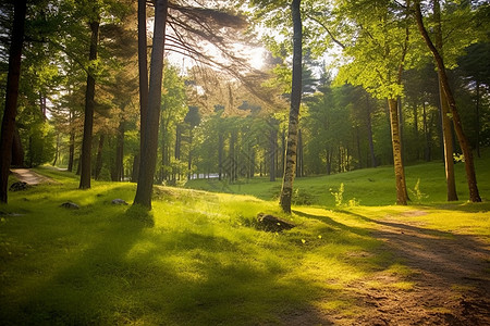
<svg viewBox="0 0 490 326">
<path fill-rule="evenodd" d="M 12 210 L 22 208 L 22 214 L 5 213 L 0 223 L 4 228 L 0 233 L 0 261 L 9 263 L 0 273 L 0 285 L 9 285 L 5 293 L 11 294 L 7 297 L 15 298 L 14 302 L 5 302 L 22 308 L 7 315 L 12 321 L 22 316 L 24 321 L 118 324 L 122 319 L 111 315 L 113 306 L 131 303 L 125 318 L 134 324 L 228 325 L 223 323 L 228 321 L 230 325 L 490 325 L 487 203 L 335 210 L 296 206 L 293 215 L 299 222 L 298 230 L 274 236 L 243 226 L 243 218 L 234 225 L 233 216 L 255 216 L 255 210 L 270 211 L 275 202 L 231 195 L 213 198 L 209 192 L 164 188 L 156 193 L 161 197 L 155 201 L 156 226 L 134 231 L 133 222 L 106 203 L 112 198 L 128 200 L 134 185 L 95 183 L 91 191 L 79 192 L 73 190 L 76 178 L 62 188 L 62 174 L 54 175 L 51 168 L 48 172 L 52 178 L 30 170 L 12 170 L 17 179 L 40 187 L 12 195 Z M 62 211 L 58 202 L 64 199 L 77 200 L 85 208 L 81 212 Z M 117 217 L 100 218 L 111 214 Z M 234 226 L 230 227 L 230 223 Z M 28 231 L 33 229 L 36 231 Z M 89 238 L 99 234 L 103 237 Z M 105 250 L 96 250 L 94 243 Z M 228 249 L 219 243 L 228 243 Z M 240 256 L 230 249 L 235 246 Z M 131 252 L 140 253 L 128 265 Z M 39 253 L 39 260 L 35 260 L 35 253 Z M 179 259 L 174 261 L 173 256 Z M 172 266 L 176 272 L 162 268 L 160 260 L 166 268 Z M 233 264 L 226 265 L 228 260 Z M 65 262 L 71 262 L 68 267 Z M 254 268 L 257 262 L 265 262 L 270 271 Z M 342 268 L 335 269 L 339 266 Z M 360 274 L 345 278 L 353 269 Z M 193 276 L 193 283 L 183 277 L 185 273 Z M 166 283 L 173 274 L 179 277 Z M 318 279 L 318 287 L 314 279 Z M 44 290 L 38 290 L 45 283 Z M 147 283 L 152 286 L 142 286 Z M 234 291 L 238 285 L 240 290 Z M 102 294 L 90 294 L 94 291 Z M 316 292 L 309 297 L 308 291 Z M 65 306 L 60 302 L 66 296 L 70 297 L 66 302 L 72 303 Z M 82 313 L 72 312 L 72 306 L 83 305 L 84 296 L 95 296 L 94 301 L 102 306 L 98 311 L 107 315 L 93 315 L 90 305 Z M 313 304 L 301 306 L 294 296 L 298 302 Z M 62 299 L 58 302 L 56 298 Z M 168 306 L 169 298 L 182 302 Z M 255 311 L 259 308 L 265 312 Z M 46 315 L 54 312 L 57 315 Z"/>
</svg>

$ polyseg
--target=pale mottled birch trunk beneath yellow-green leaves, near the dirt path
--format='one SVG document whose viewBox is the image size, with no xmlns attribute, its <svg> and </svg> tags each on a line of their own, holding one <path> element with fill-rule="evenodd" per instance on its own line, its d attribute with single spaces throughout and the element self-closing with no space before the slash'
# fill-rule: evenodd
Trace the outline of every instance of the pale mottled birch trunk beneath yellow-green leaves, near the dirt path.
<svg viewBox="0 0 490 326">
<path fill-rule="evenodd" d="M 396 99 L 388 99 L 388 105 L 390 108 L 391 142 L 393 146 L 393 165 L 396 180 L 396 204 L 406 205 L 408 195 L 406 192 Z"/>
</svg>

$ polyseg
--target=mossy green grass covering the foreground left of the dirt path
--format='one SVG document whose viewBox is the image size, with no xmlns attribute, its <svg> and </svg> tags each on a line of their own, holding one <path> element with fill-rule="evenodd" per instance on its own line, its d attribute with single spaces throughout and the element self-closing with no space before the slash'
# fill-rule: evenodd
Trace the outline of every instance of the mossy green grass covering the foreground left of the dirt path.
<svg viewBox="0 0 490 326">
<path fill-rule="evenodd" d="M 94 183 L 90 190 L 76 190 L 73 175 L 42 173 L 60 184 L 11 192 L 9 205 L 0 206 L 3 324 L 281 324 L 318 309 L 355 315 L 348 283 L 373 273 L 407 273 L 369 236 L 379 227 L 372 220 L 389 214 L 441 230 L 490 235 L 488 202 L 296 206 L 291 218 L 298 227 L 278 235 L 252 227 L 258 212 L 281 215 L 275 202 L 159 187 L 147 213 L 110 204 L 114 198 L 131 202 L 135 185 Z M 344 181 L 348 198 L 354 180 L 367 177 L 384 184 L 381 175 L 356 172 L 332 185 Z M 321 185 L 321 177 L 311 181 Z M 60 208 L 66 200 L 82 209 Z M 429 214 L 402 215 L 420 209 Z"/>
</svg>

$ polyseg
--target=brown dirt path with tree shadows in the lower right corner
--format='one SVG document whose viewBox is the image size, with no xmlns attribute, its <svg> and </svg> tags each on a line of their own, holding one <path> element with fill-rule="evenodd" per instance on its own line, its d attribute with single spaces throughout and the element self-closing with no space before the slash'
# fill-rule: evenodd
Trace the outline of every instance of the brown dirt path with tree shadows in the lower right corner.
<svg viewBox="0 0 490 326">
<path fill-rule="evenodd" d="M 372 279 L 353 284 L 357 304 L 366 313 L 350 325 L 490 325 L 488 242 L 393 217 L 376 223 L 381 227 L 373 237 L 415 273 L 380 272 Z M 400 281 L 412 287 L 401 289 L 395 286 Z M 380 289 L 370 286 L 373 283 L 387 286 Z"/>
</svg>

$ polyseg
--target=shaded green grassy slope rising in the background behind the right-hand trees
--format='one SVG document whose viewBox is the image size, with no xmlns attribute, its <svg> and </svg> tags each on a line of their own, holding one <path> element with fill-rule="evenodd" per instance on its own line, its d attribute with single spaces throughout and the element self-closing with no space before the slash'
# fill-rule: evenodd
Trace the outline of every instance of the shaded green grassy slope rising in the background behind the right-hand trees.
<svg viewBox="0 0 490 326">
<path fill-rule="evenodd" d="M 468 199 L 468 187 L 464 164 L 456 164 L 455 171 L 457 195 L 460 200 L 466 201 Z M 490 183 L 488 181 L 490 180 L 490 153 L 486 153 L 486 156 L 476 160 L 476 173 L 481 197 L 490 199 Z M 408 195 L 413 203 L 442 203 L 445 201 L 444 164 L 442 162 L 407 166 L 405 174 L 407 188 L 409 189 Z M 419 189 L 424 195 L 419 199 L 411 191 L 414 190 L 418 180 Z M 344 184 L 344 203 L 355 199 L 362 205 L 390 205 L 396 201 L 392 166 L 380 166 L 330 176 L 296 178 L 294 181 L 297 191 L 296 201 L 299 204 L 333 206 L 335 201 L 331 192 L 336 192 L 341 183 Z M 186 187 L 207 191 L 253 195 L 264 200 L 271 200 L 279 196 L 281 180 L 270 183 L 268 178 L 257 177 L 252 180 L 243 180 L 236 185 L 229 185 L 225 181 L 215 179 L 200 179 L 188 181 Z"/>
</svg>

